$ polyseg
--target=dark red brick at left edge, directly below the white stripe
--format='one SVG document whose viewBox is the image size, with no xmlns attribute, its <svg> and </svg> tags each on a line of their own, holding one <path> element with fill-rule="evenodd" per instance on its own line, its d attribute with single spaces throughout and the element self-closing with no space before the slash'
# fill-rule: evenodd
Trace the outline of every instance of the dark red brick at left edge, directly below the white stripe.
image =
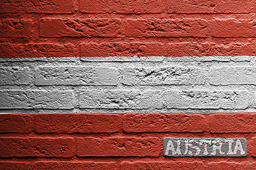
<svg viewBox="0 0 256 170">
<path fill-rule="evenodd" d="M 0 132 L 33 132 L 34 121 L 32 115 L 1 114 Z"/>
</svg>

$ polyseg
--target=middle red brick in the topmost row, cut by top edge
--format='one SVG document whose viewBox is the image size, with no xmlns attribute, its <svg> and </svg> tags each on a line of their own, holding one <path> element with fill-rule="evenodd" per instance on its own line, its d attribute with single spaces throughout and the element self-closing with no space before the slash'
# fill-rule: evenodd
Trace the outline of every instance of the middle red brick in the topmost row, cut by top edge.
<svg viewBox="0 0 256 170">
<path fill-rule="evenodd" d="M 82 13 L 161 13 L 163 7 L 161 0 L 80 0 Z"/>
</svg>

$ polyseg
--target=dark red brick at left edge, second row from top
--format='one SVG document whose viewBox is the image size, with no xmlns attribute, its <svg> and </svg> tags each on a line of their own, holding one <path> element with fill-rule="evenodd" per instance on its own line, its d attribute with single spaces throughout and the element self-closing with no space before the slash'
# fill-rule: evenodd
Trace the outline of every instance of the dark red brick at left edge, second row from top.
<svg viewBox="0 0 256 170">
<path fill-rule="evenodd" d="M 6 38 L 28 38 L 35 34 L 29 19 L 8 18 L 0 20 L 0 36 Z"/>
</svg>

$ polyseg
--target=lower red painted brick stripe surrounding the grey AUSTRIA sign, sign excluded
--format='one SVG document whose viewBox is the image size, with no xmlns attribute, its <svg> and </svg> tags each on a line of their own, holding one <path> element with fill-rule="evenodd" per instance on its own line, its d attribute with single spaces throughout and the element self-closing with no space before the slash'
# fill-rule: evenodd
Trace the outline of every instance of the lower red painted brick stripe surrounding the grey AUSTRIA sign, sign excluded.
<svg viewBox="0 0 256 170">
<path fill-rule="evenodd" d="M 0 168 L 255 169 L 254 117 L 255 113 L 2 114 Z M 23 132 L 26 137 L 18 136 Z M 240 158 L 167 162 L 163 137 L 184 136 L 245 137 L 248 155 L 236 163 Z"/>
</svg>

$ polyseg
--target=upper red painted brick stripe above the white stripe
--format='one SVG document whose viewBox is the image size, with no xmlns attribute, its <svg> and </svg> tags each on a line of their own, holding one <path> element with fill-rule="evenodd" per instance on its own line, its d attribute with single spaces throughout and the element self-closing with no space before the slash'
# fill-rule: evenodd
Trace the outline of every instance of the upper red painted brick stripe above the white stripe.
<svg viewBox="0 0 256 170">
<path fill-rule="evenodd" d="M 252 0 L 11 0 L 0 8 L 0 57 L 256 54 Z"/>
</svg>

